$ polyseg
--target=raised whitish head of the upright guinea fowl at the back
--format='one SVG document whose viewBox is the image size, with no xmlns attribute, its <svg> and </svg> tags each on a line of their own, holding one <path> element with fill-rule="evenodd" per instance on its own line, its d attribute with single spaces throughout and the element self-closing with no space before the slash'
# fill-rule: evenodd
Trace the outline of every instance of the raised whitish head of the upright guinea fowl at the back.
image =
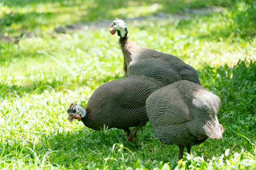
<svg viewBox="0 0 256 170">
<path fill-rule="evenodd" d="M 116 18 L 110 26 L 110 33 L 114 35 L 116 32 L 118 32 L 118 35 L 121 37 L 125 37 L 128 34 L 127 25 L 123 20 L 118 18 Z"/>
</svg>

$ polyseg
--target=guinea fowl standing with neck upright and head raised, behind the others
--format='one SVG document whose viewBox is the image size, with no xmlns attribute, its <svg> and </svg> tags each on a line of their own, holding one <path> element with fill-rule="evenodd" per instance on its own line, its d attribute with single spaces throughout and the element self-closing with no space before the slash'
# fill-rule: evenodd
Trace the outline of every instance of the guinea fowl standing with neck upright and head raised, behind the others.
<svg viewBox="0 0 256 170">
<path fill-rule="evenodd" d="M 165 85 L 179 80 L 188 80 L 201 85 L 197 71 L 181 59 L 130 42 L 127 25 L 117 18 L 110 26 L 110 33 L 116 32 L 120 36 L 119 42 L 124 54 L 125 76 L 148 76 Z"/>
</svg>

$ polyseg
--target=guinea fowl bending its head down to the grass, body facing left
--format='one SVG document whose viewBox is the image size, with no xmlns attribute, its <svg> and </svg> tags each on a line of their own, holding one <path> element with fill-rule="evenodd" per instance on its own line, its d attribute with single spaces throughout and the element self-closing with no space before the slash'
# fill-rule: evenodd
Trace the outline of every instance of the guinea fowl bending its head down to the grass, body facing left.
<svg viewBox="0 0 256 170">
<path fill-rule="evenodd" d="M 82 120 L 94 130 L 116 127 L 124 129 L 128 141 L 133 142 L 137 130 L 148 121 L 146 99 L 164 85 L 146 76 L 129 76 L 98 87 L 87 102 L 86 108 L 70 105 L 69 121 Z M 136 127 L 130 131 L 129 127 Z"/>
</svg>

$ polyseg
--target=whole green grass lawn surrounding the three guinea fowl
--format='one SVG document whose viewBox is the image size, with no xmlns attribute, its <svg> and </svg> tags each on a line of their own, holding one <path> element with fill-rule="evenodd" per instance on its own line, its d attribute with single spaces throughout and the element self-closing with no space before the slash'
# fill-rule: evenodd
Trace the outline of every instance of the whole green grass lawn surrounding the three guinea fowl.
<svg viewBox="0 0 256 170">
<path fill-rule="evenodd" d="M 221 8 L 192 14 L 185 8 Z M 254 169 L 256 166 L 256 3 L 253 0 L 0 0 L 0 169 Z M 153 20 L 157 12 L 189 20 Z M 149 123 L 136 143 L 123 130 L 94 131 L 67 120 L 71 102 L 86 106 L 93 91 L 122 78 L 123 55 L 109 27 L 57 34 L 55 27 L 102 19 L 128 22 L 137 44 L 180 57 L 217 94 L 221 140 L 178 147 L 160 143 Z M 109 23 L 111 24 L 111 23 Z"/>
</svg>

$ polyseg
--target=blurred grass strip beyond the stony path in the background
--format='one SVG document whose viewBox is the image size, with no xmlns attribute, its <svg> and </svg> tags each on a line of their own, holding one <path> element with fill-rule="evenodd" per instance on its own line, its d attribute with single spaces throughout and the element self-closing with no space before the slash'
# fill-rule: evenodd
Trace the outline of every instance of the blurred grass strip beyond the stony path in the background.
<svg viewBox="0 0 256 170">
<path fill-rule="evenodd" d="M 184 9 L 211 7 L 229 8 L 224 10 L 221 20 L 227 29 L 224 34 L 234 33 L 236 37 L 255 36 L 256 2 L 253 0 L 2 0 L 0 11 L 0 34 L 20 35 L 22 32 L 50 32 L 57 26 L 77 22 L 101 21 L 102 19 L 135 18 L 165 13 L 186 13 Z M 104 7 L 104 8 L 102 8 Z M 216 27 L 209 27 L 216 29 Z M 39 33 L 38 33 L 39 32 Z"/>
</svg>

